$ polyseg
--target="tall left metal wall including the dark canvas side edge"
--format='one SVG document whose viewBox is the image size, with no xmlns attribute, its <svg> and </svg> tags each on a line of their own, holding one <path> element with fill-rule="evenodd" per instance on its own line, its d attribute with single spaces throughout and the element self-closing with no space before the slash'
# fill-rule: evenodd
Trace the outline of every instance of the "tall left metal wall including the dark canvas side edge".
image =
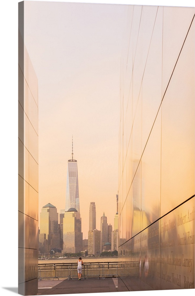
<svg viewBox="0 0 195 296">
<path fill-rule="evenodd" d="M 24 2 L 19 3 L 18 293 L 38 292 L 38 83 L 24 46 Z"/>
</svg>

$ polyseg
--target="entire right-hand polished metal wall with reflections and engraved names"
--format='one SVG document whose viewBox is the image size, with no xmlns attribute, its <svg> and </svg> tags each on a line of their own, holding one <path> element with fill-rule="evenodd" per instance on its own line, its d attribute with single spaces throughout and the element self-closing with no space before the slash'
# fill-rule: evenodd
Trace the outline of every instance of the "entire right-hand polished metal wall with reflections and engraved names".
<svg viewBox="0 0 195 296">
<path fill-rule="evenodd" d="M 194 288 L 194 10 L 128 7 L 118 250 L 130 291 Z"/>
</svg>

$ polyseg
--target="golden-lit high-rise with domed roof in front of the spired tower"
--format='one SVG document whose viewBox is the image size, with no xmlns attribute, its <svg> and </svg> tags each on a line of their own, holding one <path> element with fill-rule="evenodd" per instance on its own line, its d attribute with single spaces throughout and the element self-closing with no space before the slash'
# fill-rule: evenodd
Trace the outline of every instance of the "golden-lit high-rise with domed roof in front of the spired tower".
<svg viewBox="0 0 195 296">
<path fill-rule="evenodd" d="M 82 250 L 81 216 L 75 208 L 70 208 L 63 218 L 63 252 L 78 253 Z"/>
</svg>

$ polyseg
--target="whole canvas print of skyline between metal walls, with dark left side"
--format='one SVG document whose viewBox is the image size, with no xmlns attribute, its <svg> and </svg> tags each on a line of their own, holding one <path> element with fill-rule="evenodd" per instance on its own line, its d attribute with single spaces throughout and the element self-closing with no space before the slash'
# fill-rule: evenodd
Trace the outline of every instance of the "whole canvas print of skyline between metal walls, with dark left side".
<svg viewBox="0 0 195 296">
<path fill-rule="evenodd" d="M 19 294 L 194 289 L 194 12 L 19 2 Z"/>
</svg>

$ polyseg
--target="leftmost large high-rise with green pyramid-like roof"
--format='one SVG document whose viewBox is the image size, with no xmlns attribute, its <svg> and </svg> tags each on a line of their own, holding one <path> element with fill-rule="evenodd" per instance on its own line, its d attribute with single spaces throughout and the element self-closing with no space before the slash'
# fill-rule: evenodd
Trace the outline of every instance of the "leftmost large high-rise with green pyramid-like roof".
<svg viewBox="0 0 195 296">
<path fill-rule="evenodd" d="M 53 248 L 60 249 L 57 208 L 50 203 L 43 206 L 40 213 L 39 242 L 42 243 L 42 247 L 45 240 L 47 240 L 48 248 L 42 248 L 44 252 L 49 253 Z"/>
</svg>

